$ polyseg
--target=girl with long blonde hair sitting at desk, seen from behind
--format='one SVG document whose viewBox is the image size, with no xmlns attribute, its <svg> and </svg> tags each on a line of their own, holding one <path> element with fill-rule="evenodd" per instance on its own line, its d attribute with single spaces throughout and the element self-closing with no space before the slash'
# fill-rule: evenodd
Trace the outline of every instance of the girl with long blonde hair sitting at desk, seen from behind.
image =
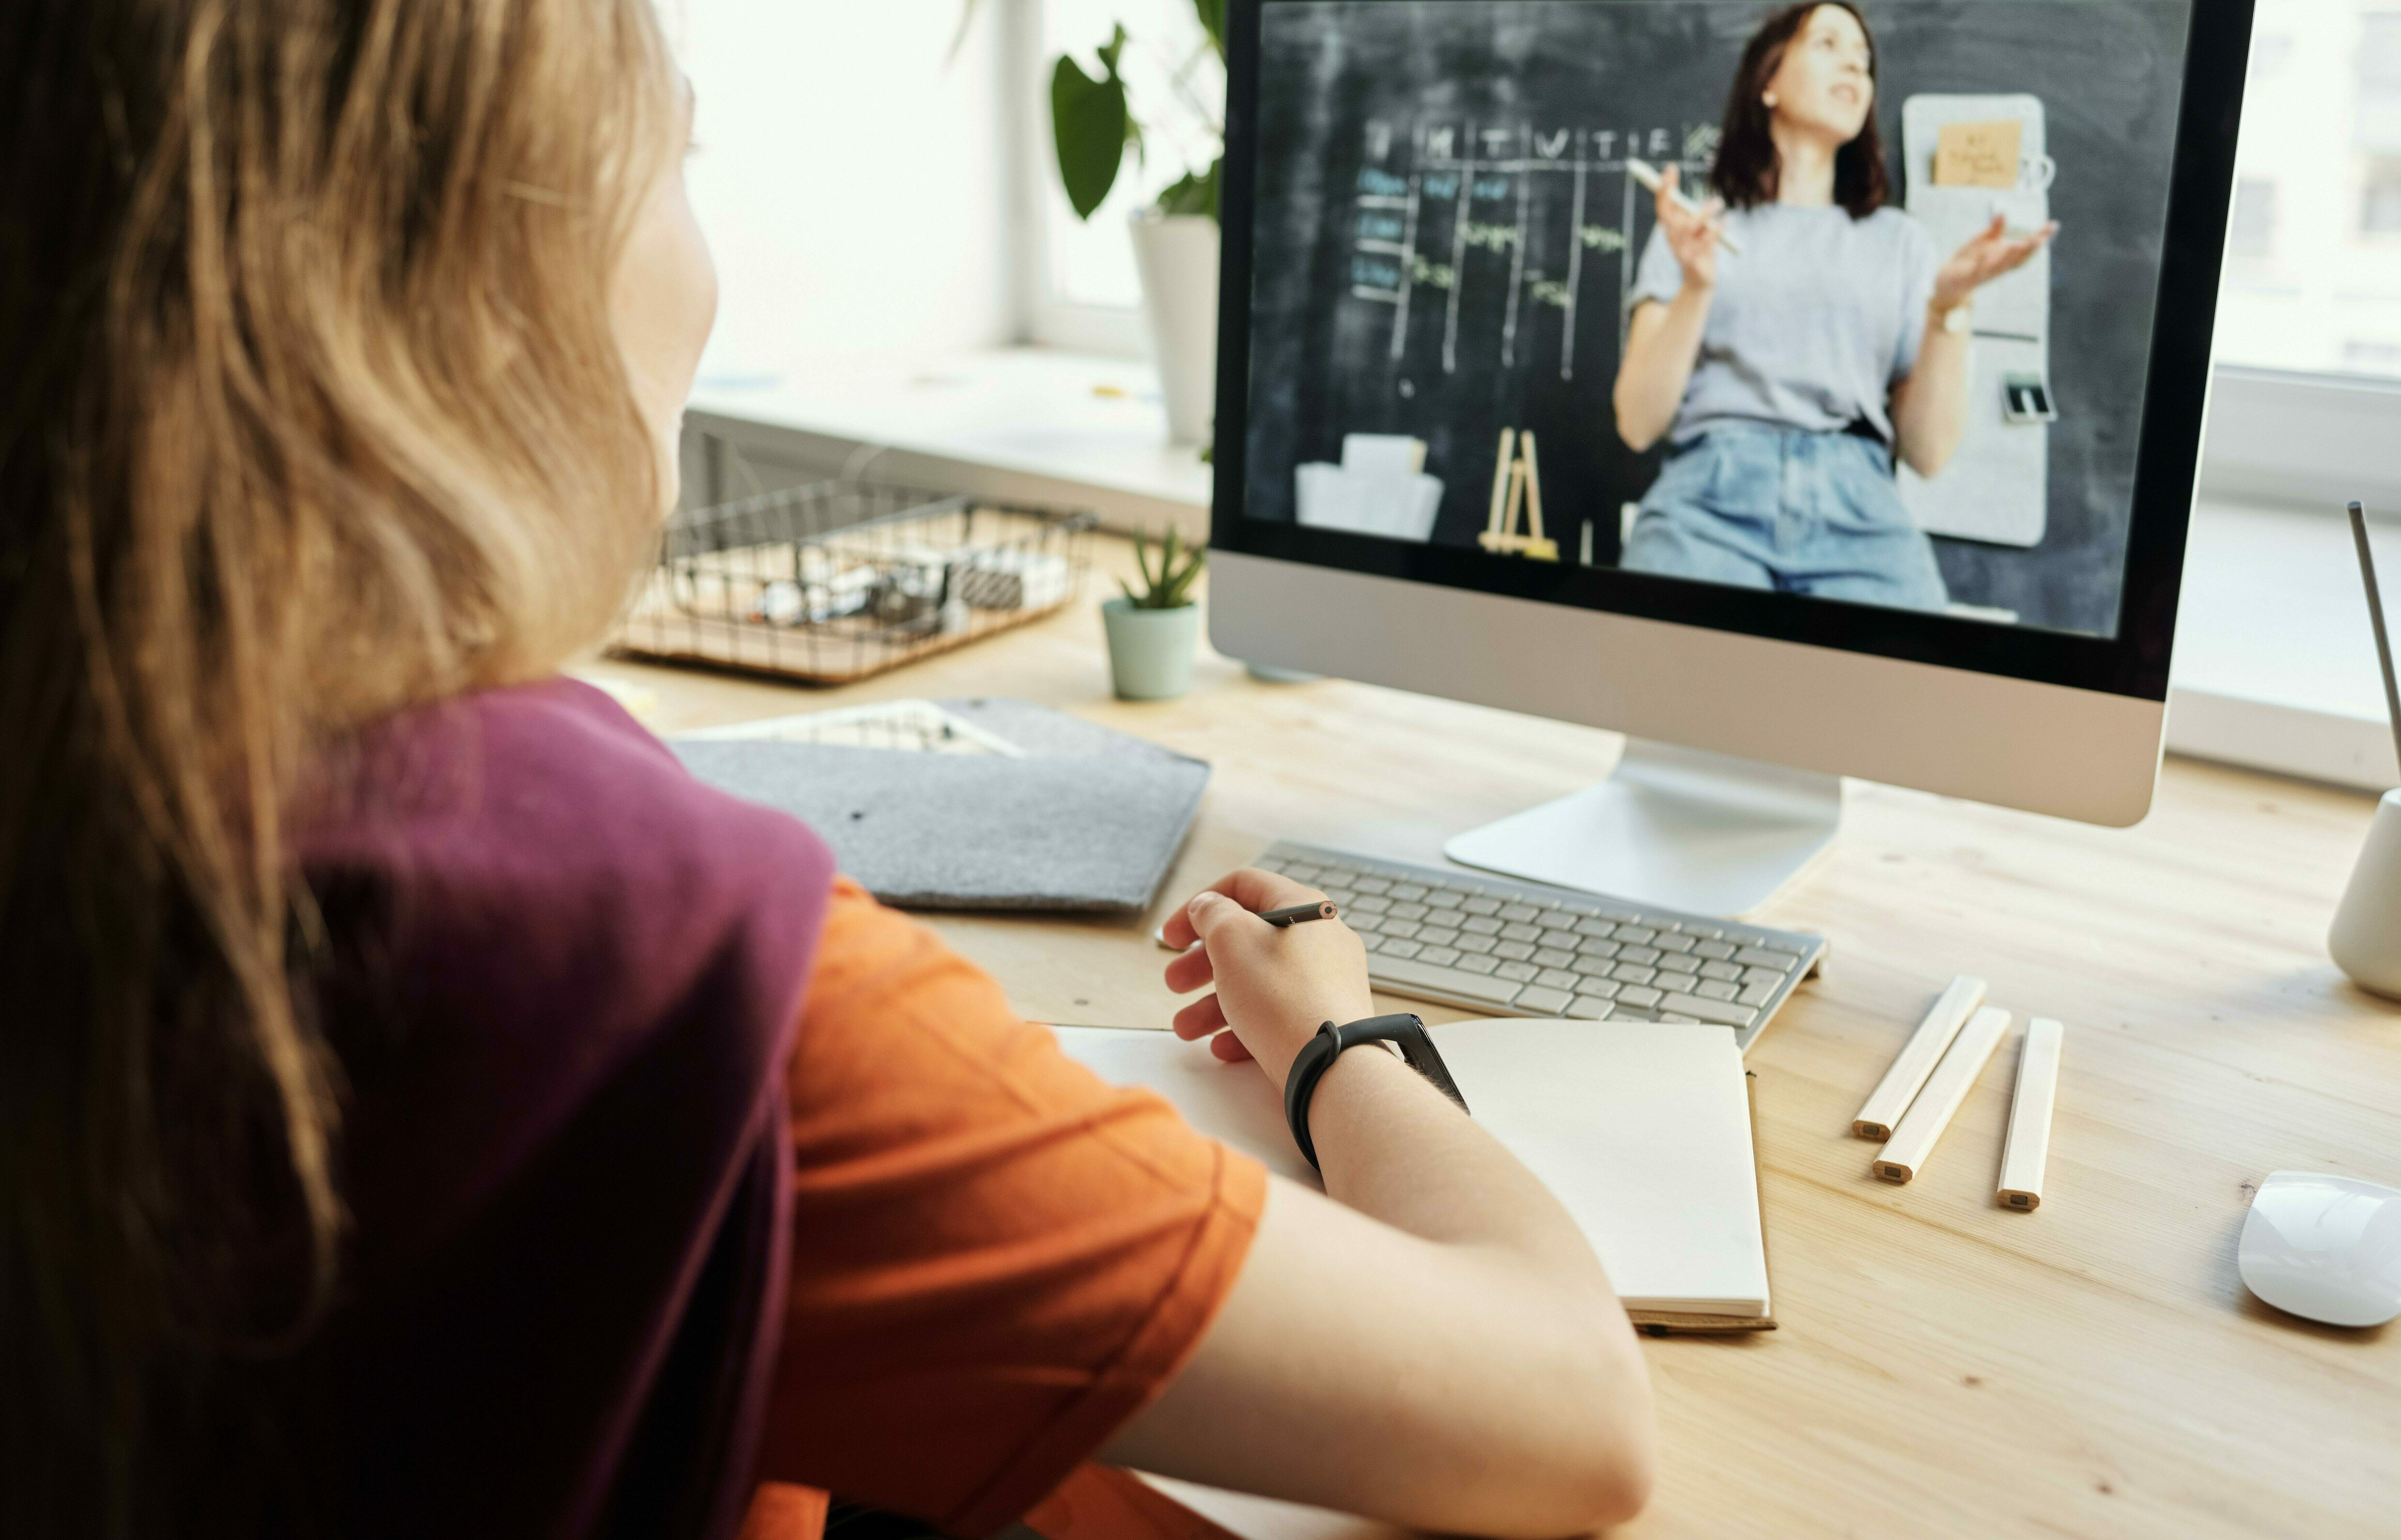
<svg viewBox="0 0 2401 1540">
<path fill-rule="evenodd" d="M 1407 1067 L 1270 1182 L 557 678 L 675 493 L 689 113 L 648 0 L 0 12 L 0 1533 L 1637 1509 L 1606 1276 Z M 1277 1081 L 1373 1011 L 1306 896 L 1169 920 Z"/>
</svg>

